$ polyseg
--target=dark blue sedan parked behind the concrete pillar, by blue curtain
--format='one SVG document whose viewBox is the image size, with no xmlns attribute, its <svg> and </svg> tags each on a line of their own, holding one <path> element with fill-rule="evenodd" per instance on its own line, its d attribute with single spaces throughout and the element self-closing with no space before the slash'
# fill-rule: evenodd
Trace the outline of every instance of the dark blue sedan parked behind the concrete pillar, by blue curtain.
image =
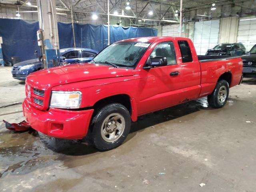
<svg viewBox="0 0 256 192">
<path fill-rule="evenodd" d="M 63 64 L 90 62 L 98 51 L 86 48 L 64 48 L 60 49 L 60 59 Z M 26 77 L 35 71 L 42 69 L 42 62 L 31 59 L 16 63 L 12 68 L 12 77 L 18 80 L 26 80 Z"/>
</svg>

